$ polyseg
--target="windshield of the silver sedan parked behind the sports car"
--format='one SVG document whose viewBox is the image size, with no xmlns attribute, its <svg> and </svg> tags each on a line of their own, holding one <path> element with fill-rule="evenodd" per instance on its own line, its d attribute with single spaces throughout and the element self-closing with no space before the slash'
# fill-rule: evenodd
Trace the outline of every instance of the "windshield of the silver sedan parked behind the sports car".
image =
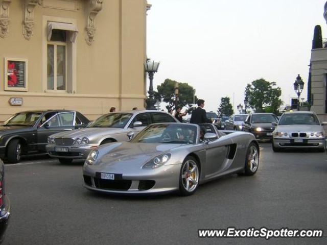
<svg viewBox="0 0 327 245">
<path fill-rule="evenodd" d="M 88 128 L 124 128 L 131 116 L 130 113 L 105 114 L 92 122 Z"/>
</svg>

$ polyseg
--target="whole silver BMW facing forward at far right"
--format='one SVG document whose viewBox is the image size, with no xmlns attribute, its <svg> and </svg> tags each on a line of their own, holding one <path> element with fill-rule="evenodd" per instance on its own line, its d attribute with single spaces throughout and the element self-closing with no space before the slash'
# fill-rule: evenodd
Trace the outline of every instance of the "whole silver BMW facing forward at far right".
<svg viewBox="0 0 327 245">
<path fill-rule="evenodd" d="M 281 149 L 326 149 L 326 133 L 317 115 L 312 111 L 285 112 L 273 131 L 272 150 Z"/>
</svg>

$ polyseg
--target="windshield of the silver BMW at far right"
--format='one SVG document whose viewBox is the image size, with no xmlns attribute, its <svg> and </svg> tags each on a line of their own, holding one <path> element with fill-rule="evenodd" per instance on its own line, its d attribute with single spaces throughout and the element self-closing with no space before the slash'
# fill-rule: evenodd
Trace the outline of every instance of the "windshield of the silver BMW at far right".
<svg viewBox="0 0 327 245">
<path fill-rule="evenodd" d="M 307 125 L 319 125 L 319 120 L 314 114 L 294 113 L 284 114 L 279 120 L 278 125 L 294 125 L 294 124 L 307 124 Z"/>
</svg>

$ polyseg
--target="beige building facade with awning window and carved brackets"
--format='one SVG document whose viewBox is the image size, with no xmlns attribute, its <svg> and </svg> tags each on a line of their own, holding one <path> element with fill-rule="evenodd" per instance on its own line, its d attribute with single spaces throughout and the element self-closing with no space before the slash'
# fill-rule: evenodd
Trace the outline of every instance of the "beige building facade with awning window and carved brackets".
<svg viewBox="0 0 327 245">
<path fill-rule="evenodd" d="M 144 108 L 146 0 L 0 0 L 0 121 Z"/>
</svg>

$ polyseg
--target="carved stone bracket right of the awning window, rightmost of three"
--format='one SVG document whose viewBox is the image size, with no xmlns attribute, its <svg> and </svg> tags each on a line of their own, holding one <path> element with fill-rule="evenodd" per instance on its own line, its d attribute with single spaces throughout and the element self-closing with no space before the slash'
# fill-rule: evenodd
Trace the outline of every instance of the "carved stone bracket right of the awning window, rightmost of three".
<svg viewBox="0 0 327 245">
<path fill-rule="evenodd" d="M 95 18 L 102 9 L 103 0 L 89 0 L 89 8 L 87 14 L 87 26 L 85 28 L 85 40 L 88 45 L 94 41 L 96 33 Z"/>
</svg>

